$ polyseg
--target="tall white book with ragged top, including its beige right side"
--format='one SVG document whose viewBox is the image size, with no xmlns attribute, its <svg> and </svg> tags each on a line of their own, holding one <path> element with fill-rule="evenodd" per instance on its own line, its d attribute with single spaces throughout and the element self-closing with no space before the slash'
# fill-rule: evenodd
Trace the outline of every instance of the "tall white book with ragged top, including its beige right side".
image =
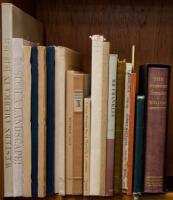
<svg viewBox="0 0 173 200">
<path fill-rule="evenodd" d="M 90 195 L 105 195 L 109 46 L 92 36 Z"/>
</svg>

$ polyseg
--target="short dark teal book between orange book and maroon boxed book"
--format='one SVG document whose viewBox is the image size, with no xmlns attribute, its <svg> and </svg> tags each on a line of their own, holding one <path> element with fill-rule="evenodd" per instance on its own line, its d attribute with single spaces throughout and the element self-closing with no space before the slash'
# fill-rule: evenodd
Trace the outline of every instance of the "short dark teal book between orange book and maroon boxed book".
<svg viewBox="0 0 173 200">
<path fill-rule="evenodd" d="M 137 95 L 134 132 L 133 192 L 143 192 L 145 96 Z"/>
</svg>

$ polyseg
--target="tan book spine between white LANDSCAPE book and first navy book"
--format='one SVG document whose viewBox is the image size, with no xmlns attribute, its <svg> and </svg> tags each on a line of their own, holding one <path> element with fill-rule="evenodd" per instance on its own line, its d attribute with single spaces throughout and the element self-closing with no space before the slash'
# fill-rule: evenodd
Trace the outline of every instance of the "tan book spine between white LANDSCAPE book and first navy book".
<svg viewBox="0 0 173 200">
<path fill-rule="evenodd" d="M 23 196 L 31 197 L 31 47 L 23 47 Z"/>
</svg>

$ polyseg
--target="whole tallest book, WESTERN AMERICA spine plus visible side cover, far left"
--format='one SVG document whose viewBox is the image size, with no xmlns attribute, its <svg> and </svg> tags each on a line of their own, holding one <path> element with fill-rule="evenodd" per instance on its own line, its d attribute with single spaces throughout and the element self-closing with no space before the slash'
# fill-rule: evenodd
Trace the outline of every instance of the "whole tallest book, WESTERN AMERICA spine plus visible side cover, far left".
<svg viewBox="0 0 173 200">
<path fill-rule="evenodd" d="M 12 129 L 11 129 L 11 48 L 12 38 L 41 43 L 42 24 L 10 3 L 1 4 L 2 20 L 2 87 L 4 140 L 4 196 L 13 196 Z"/>
</svg>

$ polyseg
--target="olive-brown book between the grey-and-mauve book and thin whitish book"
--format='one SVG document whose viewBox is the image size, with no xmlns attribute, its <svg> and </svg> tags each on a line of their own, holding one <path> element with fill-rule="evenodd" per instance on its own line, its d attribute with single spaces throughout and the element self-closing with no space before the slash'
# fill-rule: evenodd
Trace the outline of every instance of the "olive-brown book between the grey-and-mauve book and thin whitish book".
<svg viewBox="0 0 173 200">
<path fill-rule="evenodd" d="M 126 61 L 118 61 L 115 111 L 114 192 L 122 192 L 122 156 Z"/>
</svg>

